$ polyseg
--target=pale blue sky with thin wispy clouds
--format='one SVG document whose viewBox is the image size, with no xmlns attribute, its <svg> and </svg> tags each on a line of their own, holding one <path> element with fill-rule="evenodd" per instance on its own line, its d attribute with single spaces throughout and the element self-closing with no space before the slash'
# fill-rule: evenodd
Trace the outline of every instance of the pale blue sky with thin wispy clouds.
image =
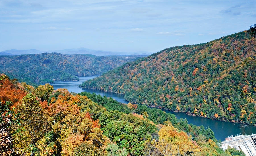
<svg viewBox="0 0 256 156">
<path fill-rule="evenodd" d="M 158 52 L 247 30 L 255 0 L 0 0 L 0 51 Z"/>
</svg>

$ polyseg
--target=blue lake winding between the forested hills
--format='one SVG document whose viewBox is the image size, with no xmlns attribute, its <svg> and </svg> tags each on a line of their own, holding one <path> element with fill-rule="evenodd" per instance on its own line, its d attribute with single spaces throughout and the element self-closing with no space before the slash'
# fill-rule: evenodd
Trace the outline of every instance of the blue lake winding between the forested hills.
<svg viewBox="0 0 256 156">
<path fill-rule="evenodd" d="M 113 99 L 117 100 L 118 102 L 128 104 L 128 101 L 124 99 L 122 94 L 104 92 L 104 91 L 98 90 L 98 89 L 83 89 L 83 88 L 78 87 L 79 84 L 81 84 L 82 82 L 87 81 L 89 79 L 93 79 L 98 76 L 99 75 L 79 77 L 79 81 L 65 81 L 65 82 L 55 81 L 55 83 L 53 83 L 51 85 L 53 85 L 54 89 L 66 88 L 67 90 L 69 90 L 69 92 L 96 93 L 96 95 L 100 94 L 101 96 L 112 97 Z M 163 111 L 166 111 L 166 113 L 175 114 L 177 118 L 186 118 L 188 123 L 192 123 L 193 125 L 197 125 L 197 126 L 203 125 L 205 128 L 207 128 L 209 126 L 212 129 L 212 131 L 214 132 L 217 140 L 220 139 L 220 140 L 224 141 L 226 137 L 228 137 L 232 134 L 236 135 L 236 134 L 242 133 L 242 134 L 250 135 L 250 134 L 256 133 L 256 127 L 254 127 L 254 126 L 244 125 L 241 123 L 230 123 L 230 122 L 224 122 L 224 121 L 211 120 L 211 119 L 207 119 L 207 118 L 203 118 L 203 117 L 190 116 L 190 115 L 187 115 L 186 113 L 171 112 L 168 110 L 163 110 Z"/>
</svg>

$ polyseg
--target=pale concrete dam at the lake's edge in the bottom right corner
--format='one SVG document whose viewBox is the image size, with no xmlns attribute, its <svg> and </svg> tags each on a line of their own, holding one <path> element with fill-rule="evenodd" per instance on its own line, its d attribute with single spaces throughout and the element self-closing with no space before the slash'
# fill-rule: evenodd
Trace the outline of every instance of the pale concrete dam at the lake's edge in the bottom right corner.
<svg viewBox="0 0 256 156">
<path fill-rule="evenodd" d="M 256 134 L 243 135 L 239 134 L 237 136 L 231 135 L 226 138 L 225 141 L 221 142 L 221 148 L 225 151 L 234 147 L 237 150 L 242 150 L 246 156 L 256 156 Z"/>
</svg>

